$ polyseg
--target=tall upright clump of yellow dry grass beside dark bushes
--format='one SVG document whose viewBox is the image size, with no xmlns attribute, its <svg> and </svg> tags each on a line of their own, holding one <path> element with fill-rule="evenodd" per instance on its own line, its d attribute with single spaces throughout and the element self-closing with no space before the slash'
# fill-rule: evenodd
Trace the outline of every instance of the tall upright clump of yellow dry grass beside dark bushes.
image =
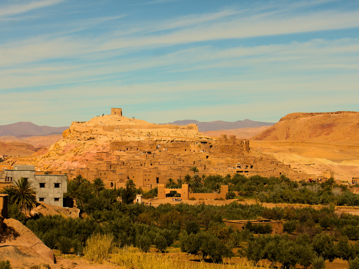
<svg viewBox="0 0 359 269">
<path fill-rule="evenodd" d="M 108 261 L 113 245 L 114 237 L 112 235 L 94 234 L 86 241 L 86 247 L 83 250 L 84 257 L 90 262 Z"/>
</svg>

